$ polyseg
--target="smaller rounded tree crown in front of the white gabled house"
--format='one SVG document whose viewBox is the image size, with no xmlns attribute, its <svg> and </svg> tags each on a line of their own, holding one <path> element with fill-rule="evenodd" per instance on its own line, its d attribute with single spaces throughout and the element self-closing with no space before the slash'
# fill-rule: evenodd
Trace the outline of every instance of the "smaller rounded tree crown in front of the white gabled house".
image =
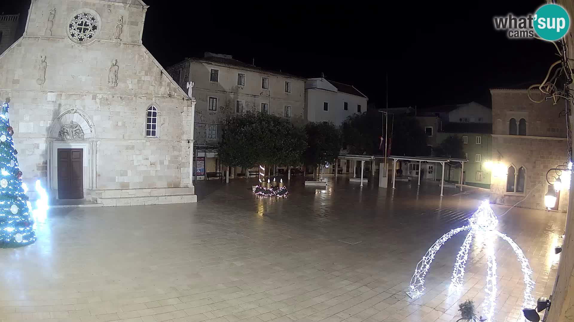
<svg viewBox="0 0 574 322">
<path fill-rule="evenodd" d="M 331 122 L 309 122 L 305 125 L 307 149 L 305 163 L 316 168 L 333 162 L 341 150 L 341 134 Z"/>
</svg>

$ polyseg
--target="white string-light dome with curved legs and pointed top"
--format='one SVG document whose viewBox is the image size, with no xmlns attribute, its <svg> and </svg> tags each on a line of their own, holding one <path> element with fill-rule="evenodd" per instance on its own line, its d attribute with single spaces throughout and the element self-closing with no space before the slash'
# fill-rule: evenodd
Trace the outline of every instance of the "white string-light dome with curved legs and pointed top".
<svg viewBox="0 0 574 322">
<path fill-rule="evenodd" d="M 522 309 L 533 308 L 535 305 L 534 298 L 532 297 L 532 290 L 534 289 L 534 281 L 531 278 L 533 273 L 532 269 L 530 269 L 528 260 L 518 245 L 510 237 L 496 230 L 498 219 L 494 215 L 494 211 L 490 208 L 487 200 L 480 204 L 478 210 L 476 210 L 468 221 L 469 225 L 449 231 L 444 234 L 443 237 L 439 238 L 435 244 L 430 246 L 429 250 L 426 251 L 425 256 L 422 257 L 420 262 L 418 262 L 413 278 L 410 280 L 409 290 L 406 294 L 408 294 L 412 299 L 416 299 L 422 295 L 422 292 L 425 290 L 424 284 L 426 273 L 428 273 L 430 264 L 441 246 L 443 246 L 444 243 L 452 236 L 460 233 L 461 231 L 468 231 L 467 237 L 464 239 L 463 245 L 456 256 L 449 290 L 454 291 L 462 288 L 464 268 L 468 259 L 468 250 L 470 250 L 472 238 L 479 236 L 480 238 L 476 239 L 483 242 L 484 249 L 486 250 L 488 257 L 486 286 L 484 287 L 486 297 L 483 302 L 482 318 L 486 322 L 492 322 L 495 307 L 494 301 L 497 297 L 497 261 L 494 254 L 494 239 L 498 236 L 510 244 L 522 266 L 522 272 L 524 273 L 524 301 L 522 303 Z M 520 315 L 522 315 L 522 312 L 520 312 Z"/>
</svg>

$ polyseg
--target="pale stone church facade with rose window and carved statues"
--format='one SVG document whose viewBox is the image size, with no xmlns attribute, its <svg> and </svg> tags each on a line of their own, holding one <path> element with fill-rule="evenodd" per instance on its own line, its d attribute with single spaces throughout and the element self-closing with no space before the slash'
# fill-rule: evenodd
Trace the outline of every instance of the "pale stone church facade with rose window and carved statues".
<svg viewBox="0 0 574 322">
<path fill-rule="evenodd" d="M 52 198 L 195 202 L 190 98 L 142 45 L 141 0 L 36 0 L 0 56 L 18 162 Z M 33 196 L 31 196 L 33 198 Z"/>
</svg>

